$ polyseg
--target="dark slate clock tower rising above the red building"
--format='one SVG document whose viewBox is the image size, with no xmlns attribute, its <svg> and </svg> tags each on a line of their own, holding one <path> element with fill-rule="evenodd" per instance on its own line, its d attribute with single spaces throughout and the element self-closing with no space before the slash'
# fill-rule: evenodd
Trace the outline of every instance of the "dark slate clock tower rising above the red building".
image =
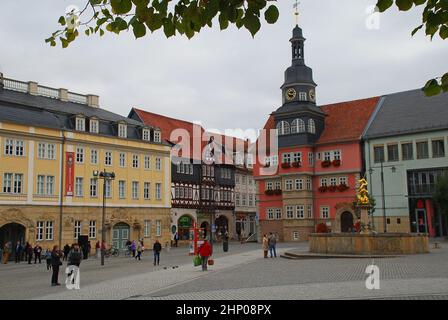
<svg viewBox="0 0 448 320">
<path fill-rule="evenodd" d="M 305 38 L 296 25 L 292 31 L 292 63 L 281 86 L 282 106 L 272 115 L 278 131 L 279 147 L 313 145 L 320 137 L 325 114 L 316 106 L 313 70 L 305 65 Z"/>
</svg>

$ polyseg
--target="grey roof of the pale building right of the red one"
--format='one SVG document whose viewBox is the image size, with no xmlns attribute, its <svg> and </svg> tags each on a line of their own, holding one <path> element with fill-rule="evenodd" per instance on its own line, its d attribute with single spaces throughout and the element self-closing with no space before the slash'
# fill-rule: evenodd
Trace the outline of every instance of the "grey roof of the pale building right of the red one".
<svg viewBox="0 0 448 320">
<path fill-rule="evenodd" d="M 384 96 L 365 138 L 448 129 L 448 93 L 426 97 L 422 90 Z"/>
</svg>

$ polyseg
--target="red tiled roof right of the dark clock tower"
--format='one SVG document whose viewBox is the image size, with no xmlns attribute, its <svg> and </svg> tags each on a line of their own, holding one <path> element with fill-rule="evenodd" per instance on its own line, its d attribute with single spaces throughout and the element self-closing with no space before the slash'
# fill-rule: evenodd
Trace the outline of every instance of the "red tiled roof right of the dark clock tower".
<svg viewBox="0 0 448 320">
<path fill-rule="evenodd" d="M 373 97 L 321 106 L 327 116 L 317 144 L 361 140 L 379 100 Z"/>
</svg>

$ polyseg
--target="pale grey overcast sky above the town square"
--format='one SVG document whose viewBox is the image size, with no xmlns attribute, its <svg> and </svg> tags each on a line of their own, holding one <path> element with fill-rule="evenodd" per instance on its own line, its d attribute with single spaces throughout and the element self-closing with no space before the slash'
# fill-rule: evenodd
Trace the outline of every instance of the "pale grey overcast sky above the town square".
<svg viewBox="0 0 448 320">
<path fill-rule="evenodd" d="M 292 0 L 280 19 L 263 23 L 255 39 L 231 26 L 204 29 L 192 40 L 157 32 L 103 38 L 83 34 L 68 49 L 44 43 L 67 6 L 86 0 L 1 0 L 0 70 L 5 77 L 100 96 L 102 108 L 127 116 L 135 106 L 208 128 L 258 129 L 281 104 L 291 63 Z M 318 104 L 421 87 L 448 71 L 448 46 L 410 33 L 421 10 L 382 14 L 379 29 L 367 9 L 375 0 L 301 0 L 306 64 L 314 70 Z"/>
</svg>

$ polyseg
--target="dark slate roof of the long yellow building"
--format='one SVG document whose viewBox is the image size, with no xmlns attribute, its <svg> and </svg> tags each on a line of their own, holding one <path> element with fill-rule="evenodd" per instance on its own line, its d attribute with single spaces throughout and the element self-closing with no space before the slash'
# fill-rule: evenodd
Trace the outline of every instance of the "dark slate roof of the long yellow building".
<svg viewBox="0 0 448 320">
<path fill-rule="evenodd" d="M 96 118 L 99 120 L 99 133 L 114 137 L 118 135 L 116 124 L 125 122 L 128 125 L 127 137 L 142 139 L 141 127 L 144 124 L 119 114 L 84 104 L 0 89 L 0 121 L 74 131 L 73 118 L 76 115 Z"/>
</svg>

